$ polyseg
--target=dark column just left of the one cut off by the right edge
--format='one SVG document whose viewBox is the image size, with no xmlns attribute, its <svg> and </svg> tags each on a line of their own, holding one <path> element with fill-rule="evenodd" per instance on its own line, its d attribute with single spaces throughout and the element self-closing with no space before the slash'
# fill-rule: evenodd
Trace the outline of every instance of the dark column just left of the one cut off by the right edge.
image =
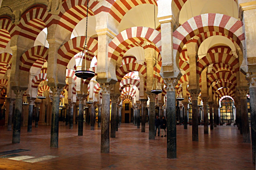
<svg viewBox="0 0 256 170">
<path fill-rule="evenodd" d="M 247 97 L 246 97 L 246 94 L 248 94 L 248 88 L 239 88 L 238 92 L 240 94 L 240 103 L 241 103 L 243 142 L 250 143 L 251 136 L 250 136 L 250 129 L 249 129 L 249 118 L 248 118 Z"/>
</svg>

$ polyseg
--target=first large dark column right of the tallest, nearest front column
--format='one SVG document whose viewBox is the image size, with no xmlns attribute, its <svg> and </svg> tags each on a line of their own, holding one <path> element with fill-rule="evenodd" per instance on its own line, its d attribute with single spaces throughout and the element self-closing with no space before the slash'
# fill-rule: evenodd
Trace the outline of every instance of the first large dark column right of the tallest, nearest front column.
<svg viewBox="0 0 256 170">
<path fill-rule="evenodd" d="M 192 97 L 192 141 L 198 142 L 198 106 L 197 98 L 200 90 L 190 89 L 190 95 Z"/>
</svg>

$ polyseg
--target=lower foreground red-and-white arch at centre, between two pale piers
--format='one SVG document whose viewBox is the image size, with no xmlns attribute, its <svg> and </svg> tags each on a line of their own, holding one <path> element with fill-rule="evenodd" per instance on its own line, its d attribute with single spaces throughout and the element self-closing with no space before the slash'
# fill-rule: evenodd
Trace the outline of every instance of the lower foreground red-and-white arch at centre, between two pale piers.
<svg viewBox="0 0 256 170">
<path fill-rule="evenodd" d="M 122 63 L 125 52 L 130 49 L 130 44 L 136 45 L 136 42 L 154 43 L 159 52 L 162 50 L 161 33 L 155 29 L 148 27 L 131 27 L 116 37 L 108 44 L 108 57 L 113 58 L 117 63 Z"/>
</svg>

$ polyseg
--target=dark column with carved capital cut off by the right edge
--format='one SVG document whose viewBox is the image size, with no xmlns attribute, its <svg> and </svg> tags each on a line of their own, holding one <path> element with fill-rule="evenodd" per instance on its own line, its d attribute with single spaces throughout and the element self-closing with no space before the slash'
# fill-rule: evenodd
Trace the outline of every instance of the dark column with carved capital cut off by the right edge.
<svg viewBox="0 0 256 170">
<path fill-rule="evenodd" d="M 255 164 L 255 148 L 256 148 L 256 73 L 246 74 L 246 79 L 249 82 L 250 92 L 250 111 L 251 111 L 251 148 L 252 162 Z"/>
</svg>

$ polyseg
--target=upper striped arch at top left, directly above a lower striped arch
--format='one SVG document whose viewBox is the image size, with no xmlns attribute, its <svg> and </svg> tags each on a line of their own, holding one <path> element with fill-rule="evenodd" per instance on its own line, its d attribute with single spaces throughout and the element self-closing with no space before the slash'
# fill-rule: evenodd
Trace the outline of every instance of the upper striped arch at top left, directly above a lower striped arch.
<svg viewBox="0 0 256 170">
<path fill-rule="evenodd" d="M 34 4 L 27 8 L 22 14 L 19 24 L 20 31 L 14 32 L 25 38 L 36 40 L 37 35 L 45 28 L 50 26 L 52 14 L 48 13 L 47 6 L 44 4 Z"/>
</svg>

